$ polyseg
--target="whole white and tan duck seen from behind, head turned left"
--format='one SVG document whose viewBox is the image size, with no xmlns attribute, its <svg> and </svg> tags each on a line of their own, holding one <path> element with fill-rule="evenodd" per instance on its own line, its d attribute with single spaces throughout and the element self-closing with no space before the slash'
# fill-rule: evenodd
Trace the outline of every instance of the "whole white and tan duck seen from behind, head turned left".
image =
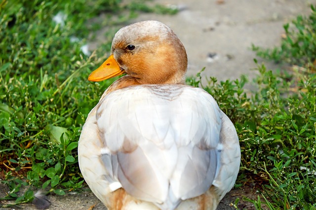
<svg viewBox="0 0 316 210">
<path fill-rule="evenodd" d="M 185 84 L 188 58 L 168 26 L 142 21 L 115 34 L 88 77 L 122 74 L 82 127 L 81 174 L 109 210 L 215 210 L 235 185 L 232 121 L 205 90 Z"/>
</svg>

